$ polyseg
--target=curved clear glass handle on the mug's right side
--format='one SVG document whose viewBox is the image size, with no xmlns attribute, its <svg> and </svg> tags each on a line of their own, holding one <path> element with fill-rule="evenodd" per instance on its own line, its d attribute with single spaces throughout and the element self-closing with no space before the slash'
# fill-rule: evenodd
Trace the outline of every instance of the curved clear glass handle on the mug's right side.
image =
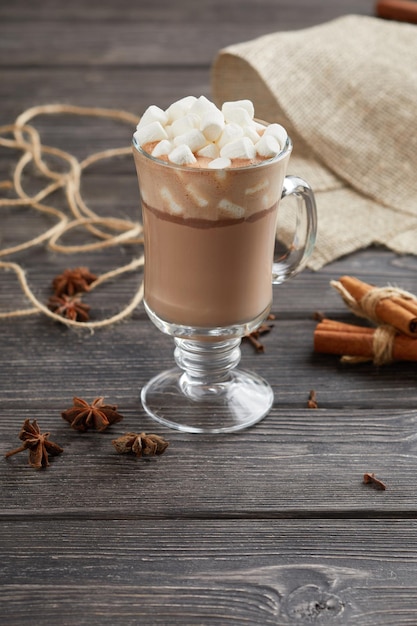
<svg viewBox="0 0 417 626">
<path fill-rule="evenodd" d="M 283 283 L 305 267 L 316 241 L 317 211 L 313 190 L 302 178 L 286 176 L 281 203 L 290 196 L 296 201 L 295 232 L 292 242 L 287 245 L 286 252 L 280 255 L 272 265 L 274 285 Z M 278 224 L 280 207 L 278 208 Z"/>
</svg>

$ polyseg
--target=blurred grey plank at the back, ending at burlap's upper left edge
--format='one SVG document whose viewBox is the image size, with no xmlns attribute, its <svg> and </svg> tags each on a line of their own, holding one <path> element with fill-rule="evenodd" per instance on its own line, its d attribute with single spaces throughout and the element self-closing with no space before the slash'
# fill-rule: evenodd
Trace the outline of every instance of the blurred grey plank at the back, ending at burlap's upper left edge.
<svg viewBox="0 0 417 626">
<path fill-rule="evenodd" d="M 280 29 L 279 22 L 276 29 Z M 271 32 L 265 24 L 216 27 L 159 21 L 102 23 L 99 29 L 80 22 L 8 22 L 0 25 L 4 52 L 1 64 L 13 66 L 124 66 L 164 67 L 207 65 L 219 48 Z M 45 47 L 44 41 L 50 42 Z M 24 47 L 16 41 L 24 40 Z M 196 45 L 198 42 L 198 45 Z"/>
</svg>

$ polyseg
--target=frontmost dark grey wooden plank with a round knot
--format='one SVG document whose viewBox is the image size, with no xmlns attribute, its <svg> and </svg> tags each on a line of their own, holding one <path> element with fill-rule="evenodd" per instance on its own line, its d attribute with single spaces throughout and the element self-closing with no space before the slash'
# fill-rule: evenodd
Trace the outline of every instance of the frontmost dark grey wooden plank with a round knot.
<svg viewBox="0 0 417 626">
<path fill-rule="evenodd" d="M 1 530 L 10 626 L 35 615 L 40 626 L 415 620 L 414 520 L 32 521 Z"/>
</svg>

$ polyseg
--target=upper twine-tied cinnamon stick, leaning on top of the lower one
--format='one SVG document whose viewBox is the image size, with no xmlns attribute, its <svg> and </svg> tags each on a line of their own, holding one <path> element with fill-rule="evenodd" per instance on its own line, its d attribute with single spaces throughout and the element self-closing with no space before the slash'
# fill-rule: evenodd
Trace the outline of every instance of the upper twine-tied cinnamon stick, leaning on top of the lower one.
<svg viewBox="0 0 417 626">
<path fill-rule="evenodd" d="M 353 276 L 342 276 L 331 284 L 357 315 L 389 324 L 409 337 L 417 337 L 417 298 L 412 294 L 393 287 L 372 287 Z M 343 290 L 357 306 L 348 300 Z"/>
</svg>

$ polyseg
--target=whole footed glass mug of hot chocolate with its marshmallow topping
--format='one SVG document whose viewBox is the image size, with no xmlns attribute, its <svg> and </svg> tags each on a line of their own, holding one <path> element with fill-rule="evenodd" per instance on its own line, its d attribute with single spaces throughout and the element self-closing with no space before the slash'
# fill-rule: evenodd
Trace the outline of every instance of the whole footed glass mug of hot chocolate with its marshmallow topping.
<svg viewBox="0 0 417 626">
<path fill-rule="evenodd" d="M 149 107 L 138 124 L 144 302 L 174 336 L 177 365 L 152 378 L 141 400 L 165 426 L 231 432 L 272 406 L 268 383 L 237 365 L 242 336 L 269 311 L 272 280 L 299 271 L 314 244 L 314 195 L 285 175 L 291 147 L 282 126 L 255 121 L 249 100 L 220 110 L 188 96 L 166 111 Z M 278 204 L 288 195 L 297 199 L 297 225 L 273 265 Z"/>
</svg>

